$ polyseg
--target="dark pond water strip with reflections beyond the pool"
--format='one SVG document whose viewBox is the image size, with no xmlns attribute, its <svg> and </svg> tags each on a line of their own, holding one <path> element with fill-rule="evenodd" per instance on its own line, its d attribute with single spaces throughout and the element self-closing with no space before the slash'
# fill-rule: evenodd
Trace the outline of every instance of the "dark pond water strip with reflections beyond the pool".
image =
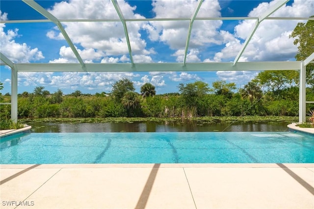
<svg viewBox="0 0 314 209">
<path fill-rule="evenodd" d="M 288 131 L 288 122 L 204 123 L 198 121 L 134 123 L 27 123 L 32 132 L 207 132 L 207 131 Z"/>
</svg>

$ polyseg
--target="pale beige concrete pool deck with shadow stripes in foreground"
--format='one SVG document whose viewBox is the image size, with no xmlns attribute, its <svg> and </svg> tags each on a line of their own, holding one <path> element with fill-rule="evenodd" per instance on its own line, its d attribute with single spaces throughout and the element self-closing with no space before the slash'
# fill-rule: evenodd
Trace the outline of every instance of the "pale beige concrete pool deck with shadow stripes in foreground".
<svg viewBox="0 0 314 209">
<path fill-rule="evenodd" d="M 314 208 L 314 163 L 1 164 L 0 181 L 1 209 Z"/>
</svg>

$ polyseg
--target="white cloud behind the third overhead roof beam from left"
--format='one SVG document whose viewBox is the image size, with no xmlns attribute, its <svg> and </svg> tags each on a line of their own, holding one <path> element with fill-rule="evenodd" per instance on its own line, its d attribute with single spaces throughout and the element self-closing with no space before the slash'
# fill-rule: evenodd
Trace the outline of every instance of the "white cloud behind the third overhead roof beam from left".
<svg viewBox="0 0 314 209">
<path fill-rule="evenodd" d="M 190 18 L 197 6 L 196 0 L 158 0 L 153 1 L 153 11 L 156 18 Z M 197 17 L 219 17 L 220 6 L 218 0 L 207 0 L 202 3 Z M 185 48 L 189 21 L 156 21 L 143 26 L 149 34 L 151 41 L 161 41 L 170 49 L 177 50 L 173 55 L 178 56 L 177 61 L 183 60 L 180 50 Z M 192 52 L 187 59 L 189 62 L 200 61 L 193 51 L 200 50 L 212 44 L 220 44 L 218 28 L 222 21 L 195 21 L 189 42 L 189 51 Z"/>
</svg>

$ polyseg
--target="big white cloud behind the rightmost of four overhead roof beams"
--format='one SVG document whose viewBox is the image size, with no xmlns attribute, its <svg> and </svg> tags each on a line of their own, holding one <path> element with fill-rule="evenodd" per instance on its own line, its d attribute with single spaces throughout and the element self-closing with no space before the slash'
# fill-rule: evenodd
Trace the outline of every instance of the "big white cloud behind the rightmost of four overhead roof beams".
<svg viewBox="0 0 314 209">
<path fill-rule="evenodd" d="M 274 3 L 275 1 L 260 3 L 248 16 L 258 17 Z M 291 6 L 282 6 L 272 16 L 309 17 L 313 15 L 313 8 L 313 0 L 294 0 Z M 235 26 L 234 34 L 221 32 L 222 36 L 228 36 L 228 39 L 224 38 L 225 47 L 220 52 L 215 53 L 213 61 L 221 61 L 222 59 L 232 61 L 242 47 L 240 40 L 243 42 L 246 39 L 255 26 L 255 22 L 255 20 L 241 21 Z M 288 35 L 291 34 L 298 22 L 300 21 L 264 20 L 254 33 L 240 61 L 285 61 L 293 59 L 297 47 L 293 45 L 293 39 L 289 39 Z"/>
</svg>

